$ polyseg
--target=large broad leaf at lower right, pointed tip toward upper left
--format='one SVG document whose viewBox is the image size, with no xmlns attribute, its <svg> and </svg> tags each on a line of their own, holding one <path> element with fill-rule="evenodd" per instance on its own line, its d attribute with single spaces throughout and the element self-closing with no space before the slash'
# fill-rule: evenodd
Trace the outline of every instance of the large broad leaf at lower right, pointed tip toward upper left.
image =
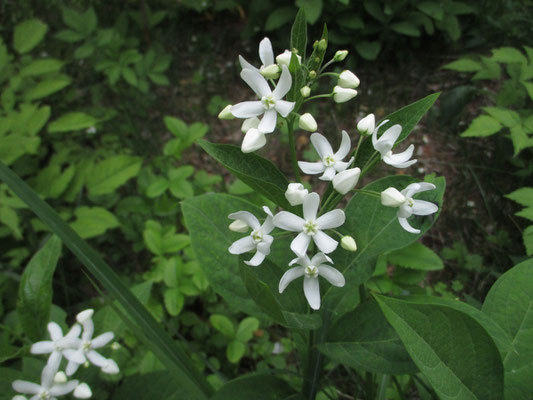
<svg viewBox="0 0 533 400">
<path fill-rule="evenodd" d="M 443 305 L 375 298 L 441 399 L 503 399 L 500 354 L 472 317 Z"/>
</svg>

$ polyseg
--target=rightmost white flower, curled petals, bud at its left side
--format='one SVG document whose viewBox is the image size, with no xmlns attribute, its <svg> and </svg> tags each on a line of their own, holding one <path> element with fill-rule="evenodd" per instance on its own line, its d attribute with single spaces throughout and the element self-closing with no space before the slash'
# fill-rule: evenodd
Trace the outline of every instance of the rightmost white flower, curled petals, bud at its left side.
<svg viewBox="0 0 533 400">
<path fill-rule="evenodd" d="M 401 192 L 390 187 L 381 192 L 381 204 L 387 207 L 399 207 L 397 215 L 402 228 L 410 233 L 420 233 L 420 229 L 415 229 L 409 225 L 407 218 L 411 215 L 434 214 L 439 210 L 439 207 L 429 201 L 415 200 L 413 196 L 433 189 L 435 189 L 435 185 L 428 182 L 411 183 Z"/>
</svg>

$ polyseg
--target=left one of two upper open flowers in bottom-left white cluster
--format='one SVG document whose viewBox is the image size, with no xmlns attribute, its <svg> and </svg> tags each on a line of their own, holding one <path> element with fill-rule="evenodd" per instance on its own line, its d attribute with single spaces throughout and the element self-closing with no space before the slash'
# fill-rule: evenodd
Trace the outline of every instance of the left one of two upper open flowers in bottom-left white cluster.
<svg viewBox="0 0 533 400">
<path fill-rule="evenodd" d="M 63 336 L 61 327 L 55 322 L 50 322 L 47 326 L 50 333 L 50 339 L 42 342 L 34 343 L 30 348 L 32 354 L 48 354 L 48 365 L 51 365 L 53 369 L 57 370 L 61 359 L 63 357 L 63 351 L 66 349 L 75 349 L 79 347 L 81 340 L 79 338 L 81 333 L 81 326 L 75 324 L 68 333 Z"/>
</svg>

